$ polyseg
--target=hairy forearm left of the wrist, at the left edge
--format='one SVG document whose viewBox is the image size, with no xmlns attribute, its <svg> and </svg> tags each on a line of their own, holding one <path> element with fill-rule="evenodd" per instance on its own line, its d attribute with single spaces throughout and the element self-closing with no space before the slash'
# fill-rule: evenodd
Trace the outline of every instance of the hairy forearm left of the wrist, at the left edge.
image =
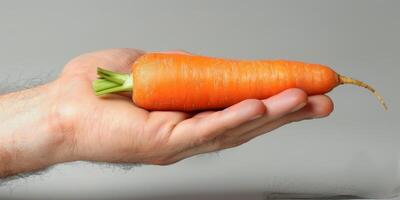
<svg viewBox="0 0 400 200">
<path fill-rule="evenodd" d="M 0 177 L 46 168 L 63 157 L 64 136 L 44 85 L 0 96 Z"/>
</svg>

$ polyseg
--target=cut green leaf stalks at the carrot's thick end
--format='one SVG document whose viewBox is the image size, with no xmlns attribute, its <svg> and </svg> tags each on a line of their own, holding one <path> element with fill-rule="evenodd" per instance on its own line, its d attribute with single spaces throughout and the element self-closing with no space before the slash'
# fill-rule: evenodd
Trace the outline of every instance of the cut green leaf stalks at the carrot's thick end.
<svg viewBox="0 0 400 200">
<path fill-rule="evenodd" d="M 99 78 L 93 82 L 93 89 L 97 96 L 132 91 L 132 77 L 129 74 L 121 74 L 97 68 Z"/>
</svg>

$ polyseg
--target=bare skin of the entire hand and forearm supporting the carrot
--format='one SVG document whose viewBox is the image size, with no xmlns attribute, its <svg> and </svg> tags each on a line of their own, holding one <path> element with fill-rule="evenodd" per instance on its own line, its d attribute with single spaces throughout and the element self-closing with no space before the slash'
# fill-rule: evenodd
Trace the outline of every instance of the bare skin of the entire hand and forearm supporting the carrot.
<svg viewBox="0 0 400 200">
<path fill-rule="evenodd" d="M 93 94 L 96 67 L 129 72 L 142 54 L 136 49 L 84 54 L 54 81 L 0 96 L 0 177 L 73 161 L 168 165 L 333 110 L 329 97 L 300 89 L 197 114 L 149 112 L 129 94 Z"/>
</svg>

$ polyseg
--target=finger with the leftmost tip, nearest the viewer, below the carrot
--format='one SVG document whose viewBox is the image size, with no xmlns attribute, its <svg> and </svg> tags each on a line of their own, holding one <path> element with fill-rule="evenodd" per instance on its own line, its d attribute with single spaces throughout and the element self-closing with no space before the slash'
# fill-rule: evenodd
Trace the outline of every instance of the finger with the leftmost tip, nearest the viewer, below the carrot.
<svg viewBox="0 0 400 200">
<path fill-rule="evenodd" d="M 228 129 L 254 120 L 265 113 L 260 100 L 249 99 L 203 118 L 190 118 L 180 123 L 171 135 L 171 141 L 185 147 L 207 143 Z"/>
</svg>

